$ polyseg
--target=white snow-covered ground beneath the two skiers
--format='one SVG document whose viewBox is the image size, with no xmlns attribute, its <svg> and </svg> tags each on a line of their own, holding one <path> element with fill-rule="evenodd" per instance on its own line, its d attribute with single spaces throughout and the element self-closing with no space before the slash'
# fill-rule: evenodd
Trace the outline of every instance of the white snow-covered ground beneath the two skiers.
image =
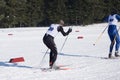
<svg viewBox="0 0 120 80">
<path fill-rule="evenodd" d="M 120 59 L 102 58 L 109 52 L 107 30 L 95 43 L 106 26 L 105 23 L 73 26 L 62 51 L 66 37 L 59 33 L 55 37 L 59 52 L 56 65 L 71 69 L 51 72 L 39 69 L 40 65 L 48 67 L 49 54 L 41 63 L 47 50 L 42 38 L 48 28 L 0 29 L 0 80 L 120 80 Z M 24 57 L 25 62 L 8 63 L 17 57 Z"/>
</svg>

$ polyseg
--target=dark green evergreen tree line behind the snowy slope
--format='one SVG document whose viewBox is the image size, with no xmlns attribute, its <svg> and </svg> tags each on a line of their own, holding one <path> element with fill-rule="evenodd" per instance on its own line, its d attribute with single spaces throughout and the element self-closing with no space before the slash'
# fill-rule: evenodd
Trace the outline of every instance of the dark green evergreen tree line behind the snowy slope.
<svg viewBox="0 0 120 80">
<path fill-rule="evenodd" d="M 101 23 L 120 0 L 0 0 L 0 28 Z"/>
</svg>

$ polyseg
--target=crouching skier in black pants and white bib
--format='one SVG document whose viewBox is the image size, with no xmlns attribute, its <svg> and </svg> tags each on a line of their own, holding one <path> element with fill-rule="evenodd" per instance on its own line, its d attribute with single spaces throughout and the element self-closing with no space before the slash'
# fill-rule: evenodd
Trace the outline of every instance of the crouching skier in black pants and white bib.
<svg viewBox="0 0 120 80">
<path fill-rule="evenodd" d="M 53 64 L 55 63 L 58 54 L 57 47 L 54 42 L 54 37 L 57 35 L 58 32 L 61 32 L 63 36 L 67 36 L 70 32 L 72 32 L 71 28 L 69 28 L 67 32 L 64 32 L 63 25 L 63 20 L 60 20 L 59 24 L 51 24 L 43 37 L 44 44 L 50 49 L 50 69 L 55 68 Z"/>
</svg>

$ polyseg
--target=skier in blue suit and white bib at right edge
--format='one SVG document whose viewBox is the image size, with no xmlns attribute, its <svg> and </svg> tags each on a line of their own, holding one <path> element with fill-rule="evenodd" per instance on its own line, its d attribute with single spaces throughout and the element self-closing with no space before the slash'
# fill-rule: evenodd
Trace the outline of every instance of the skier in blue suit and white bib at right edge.
<svg viewBox="0 0 120 80">
<path fill-rule="evenodd" d="M 112 50 L 115 42 L 115 57 L 119 57 L 120 36 L 117 30 L 117 23 L 120 21 L 120 15 L 116 14 L 116 10 L 113 9 L 105 21 L 108 22 L 108 35 L 111 41 L 108 58 L 113 58 Z"/>
</svg>

